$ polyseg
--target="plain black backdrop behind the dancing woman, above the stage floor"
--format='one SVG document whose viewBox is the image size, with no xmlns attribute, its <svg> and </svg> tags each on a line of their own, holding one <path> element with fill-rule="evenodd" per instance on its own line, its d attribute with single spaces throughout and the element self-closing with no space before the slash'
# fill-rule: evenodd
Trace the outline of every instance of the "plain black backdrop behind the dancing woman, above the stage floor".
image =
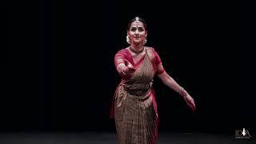
<svg viewBox="0 0 256 144">
<path fill-rule="evenodd" d="M 34 1 L 1 7 L 1 131 L 114 131 L 114 54 L 140 16 L 166 72 L 194 98 L 154 80 L 161 131 L 255 134 L 250 4 Z M 6 31 L 5 31 L 6 30 Z M 6 43 L 5 43 L 6 42 Z"/>
</svg>

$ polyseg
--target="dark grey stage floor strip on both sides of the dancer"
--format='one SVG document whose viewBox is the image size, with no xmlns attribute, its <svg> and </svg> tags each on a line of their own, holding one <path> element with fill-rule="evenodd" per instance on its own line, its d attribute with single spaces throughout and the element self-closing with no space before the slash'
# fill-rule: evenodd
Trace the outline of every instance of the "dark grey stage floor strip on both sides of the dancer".
<svg viewBox="0 0 256 144">
<path fill-rule="evenodd" d="M 117 144 L 116 135 L 90 133 L 2 133 L 1 144 Z M 230 135 L 161 133 L 157 144 L 233 144 L 256 143 L 255 138 L 238 139 Z"/>
</svg>

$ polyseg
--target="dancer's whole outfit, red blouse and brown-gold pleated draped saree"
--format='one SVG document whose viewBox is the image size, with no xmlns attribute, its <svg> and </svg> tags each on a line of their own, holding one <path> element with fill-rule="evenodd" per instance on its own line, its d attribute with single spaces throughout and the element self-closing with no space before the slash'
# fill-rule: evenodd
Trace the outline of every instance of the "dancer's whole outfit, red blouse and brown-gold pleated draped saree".
<svg viewBox="0 0 256 144">
<path fill-rule="evenodd" d="M 115 90 L 110 116 L 114 118 L 119 144 L 154 144 L 158 138 L 158 110 L 152 88 L 158 70 L 154 48 L 146 47 L 146 54 L 134 63 L 129 50 L 115 55 L 126 58 L 136 68 L 134 74 L 122 78 Z M 158 56 L 158 54 L 157 54 Z"/>
</svg>

